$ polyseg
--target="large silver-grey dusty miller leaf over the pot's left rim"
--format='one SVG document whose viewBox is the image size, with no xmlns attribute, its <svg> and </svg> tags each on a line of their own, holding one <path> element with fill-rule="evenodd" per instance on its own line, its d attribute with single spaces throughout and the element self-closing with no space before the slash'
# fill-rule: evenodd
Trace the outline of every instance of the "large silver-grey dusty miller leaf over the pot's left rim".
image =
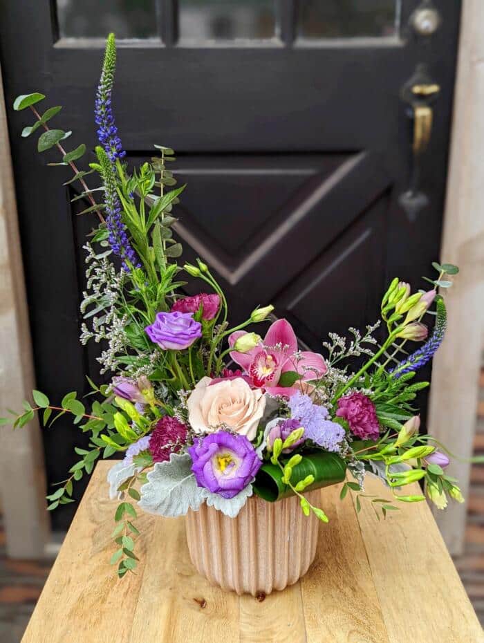
<svg viewBox="0 0 484 643">
<path fill-rule="evenodd" d="M 155 463 L 140 489 L 138 505 L 149 514 L 174 518 L 189 509 L 198 511 L 202 490 L 196 485 L 189 454 L 171 454 L 169 462 Z"/>
</svg>

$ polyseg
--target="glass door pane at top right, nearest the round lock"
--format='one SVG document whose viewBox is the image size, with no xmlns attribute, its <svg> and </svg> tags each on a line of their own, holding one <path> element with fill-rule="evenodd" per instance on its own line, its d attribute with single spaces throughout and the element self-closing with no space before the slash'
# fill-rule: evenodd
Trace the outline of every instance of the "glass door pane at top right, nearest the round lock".
<svg viewBox="0 0 484 643">
<path fill-rule="evenodd" d="M 304 0 L 299 35 L 304 38 L 384 37 L 398 34 L 400 0 Z"/>
</svg>

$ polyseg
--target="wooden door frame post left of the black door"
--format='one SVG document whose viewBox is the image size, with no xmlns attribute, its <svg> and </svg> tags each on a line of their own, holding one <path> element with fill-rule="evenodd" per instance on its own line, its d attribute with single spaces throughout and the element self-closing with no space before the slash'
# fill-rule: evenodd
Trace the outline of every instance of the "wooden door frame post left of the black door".
<svg viewBox="0 0 484 643">
<path fill-rule="evenodd" d="M 0 68 L 0 412 L 31 398 L 34 367 L 15 185 Z M 44 450 L 37 420 L 0 430 L 0 498 L 7 555 L 41 558 L 49 539 Z"/>
</svg>

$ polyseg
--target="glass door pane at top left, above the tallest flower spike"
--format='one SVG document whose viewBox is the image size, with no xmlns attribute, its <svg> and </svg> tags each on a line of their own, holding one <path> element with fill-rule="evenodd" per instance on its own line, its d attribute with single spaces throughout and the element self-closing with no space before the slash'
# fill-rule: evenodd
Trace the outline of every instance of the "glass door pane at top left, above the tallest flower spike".
<svg viewBox="0 0 484 643">
<path fill-rule="evenodd" d="M 59 36 L 118 39 L 157 35 L 156 0 L 57 0 Z"/>
</svg>

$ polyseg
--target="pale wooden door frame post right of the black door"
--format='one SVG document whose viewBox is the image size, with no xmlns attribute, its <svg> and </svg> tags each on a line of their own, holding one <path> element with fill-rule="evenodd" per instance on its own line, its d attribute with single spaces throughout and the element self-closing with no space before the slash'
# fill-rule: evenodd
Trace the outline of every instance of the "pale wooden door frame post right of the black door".
<svg viewBox="0 0 484 643">
<path fill-rule="evenodd" d="M 484 330 L 483 23 L 482 1 L 464 0 L 440 252 L 460 273 L 446 298 L 448 331 L 434 360 L 429 406 L 429 432 L 466 458 L 473 454 Z M 448 472 L 467 498 L 469 463 L 454 460 Z M 467 505 L 452 503 L 435 516 L 450 552 L 462 553 Z"/>
</svg>

